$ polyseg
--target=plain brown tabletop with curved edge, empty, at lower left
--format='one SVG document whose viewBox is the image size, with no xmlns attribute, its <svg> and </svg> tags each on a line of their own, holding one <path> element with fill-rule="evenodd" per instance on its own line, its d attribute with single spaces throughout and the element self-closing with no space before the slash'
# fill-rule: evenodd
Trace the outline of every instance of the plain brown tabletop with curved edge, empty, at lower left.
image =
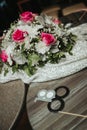
<svg viewBox="0 0 87 130">
<path fill-rule="evenodd" d="M 0 83 L 0 130 L 11 130 L 20 113 L 24 92 L 21 80 Z"/>
</svg>

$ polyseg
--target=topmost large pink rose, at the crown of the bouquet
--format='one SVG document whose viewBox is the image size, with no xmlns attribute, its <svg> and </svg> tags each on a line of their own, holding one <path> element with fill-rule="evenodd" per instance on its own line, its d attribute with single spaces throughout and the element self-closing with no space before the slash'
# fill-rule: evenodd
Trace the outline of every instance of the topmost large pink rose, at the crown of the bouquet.
<svg viewBox="0 0 87 130">
<path fill-rule="evenodd" d="M 23 22 L 32 22 L 34 20 L 35 15 L 32 12 L 26 11 L 20 14 L 20 19 Z"/>
</svg>

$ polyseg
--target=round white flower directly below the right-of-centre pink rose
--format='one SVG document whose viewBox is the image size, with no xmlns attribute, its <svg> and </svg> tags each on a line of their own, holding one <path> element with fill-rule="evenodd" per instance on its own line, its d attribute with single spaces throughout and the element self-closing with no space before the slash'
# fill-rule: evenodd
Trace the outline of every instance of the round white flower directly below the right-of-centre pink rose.
<svg viewBox="0 0 87 130">
<path fill-rule="evenodd" d="M 35 47 L 38 53 L 45 54 L 47 51 L 49 51 L 51 46 L 46 46 L 44 42 L 40 41 L 39 43 L 36 43 Z"/>
</svg>

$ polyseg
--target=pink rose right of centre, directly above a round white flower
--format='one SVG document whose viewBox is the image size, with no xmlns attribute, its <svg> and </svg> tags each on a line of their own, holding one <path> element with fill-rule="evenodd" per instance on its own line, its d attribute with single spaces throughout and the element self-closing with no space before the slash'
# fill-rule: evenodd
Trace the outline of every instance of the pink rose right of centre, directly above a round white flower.
<svg viewBox="0 0 87 130">
<path fill-rule="evenodd" d="M 49 33 L 42 32 L 41 38 L 42 38 L 42 41 L 45 42 L 47 46 L 55 43 L 55 41 L 56 41 L 55 37 L 52 34 L 49 34 Z"/>
</svg>

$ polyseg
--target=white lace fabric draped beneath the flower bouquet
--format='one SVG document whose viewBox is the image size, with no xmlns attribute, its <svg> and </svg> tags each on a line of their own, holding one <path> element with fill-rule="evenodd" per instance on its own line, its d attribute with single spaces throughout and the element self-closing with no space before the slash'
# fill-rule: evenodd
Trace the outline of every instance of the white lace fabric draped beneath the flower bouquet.
<svg viewBox="0 0 87 130">
<path fill-rule="evenodd" d="M 73 55 L 66 53 L 66 58 L 62 59 L 58 64 L 46 64 L 42 68 L 38 68 L 36 74 L 29 77 L 25 72 L 19 71 L 9 72 L 4 76 L 4 71 L 0 74 L 0 83 L 21 79 L 24 83 L 45 82 L 53 79 L 74 74 L 87 67 L 87 23 L 69 29 L 78 36 L 77 43 L 73 47 Z"/>
</svg>

